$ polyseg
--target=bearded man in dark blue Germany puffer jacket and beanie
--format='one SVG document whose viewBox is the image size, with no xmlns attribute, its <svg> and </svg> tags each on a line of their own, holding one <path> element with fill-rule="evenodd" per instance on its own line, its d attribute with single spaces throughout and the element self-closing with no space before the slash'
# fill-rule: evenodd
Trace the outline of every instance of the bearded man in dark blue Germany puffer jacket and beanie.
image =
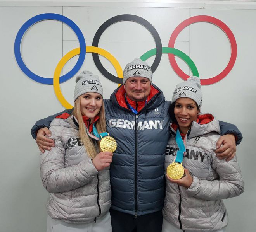
<svg viewBox="0 0 256 232">
<path fill-rule="evenodd" d="M 171 102 L 165 101 L 163 92 L 152 84 L 151 68 L 139 58 L 126 65 L 123 75 L 123 85 L 104 101 L 107 131 L 118 144 L 110 167 L 112 229 L 113 232 L 161 232 Z M 45 138 L 50 134 L 45 127 L 53 118 L 40 120 L 32 128 L 42 152 L 54 146 L 54 141 Z M 220 152 L 221 159 L 232 159 L 235 136 L 239 144 L 242 135 L 235 125 L 220 122 L 220 128 L 225 136 L 221 136 L 217 146 L 224 145 L 216 152 Z"/>
</svg>

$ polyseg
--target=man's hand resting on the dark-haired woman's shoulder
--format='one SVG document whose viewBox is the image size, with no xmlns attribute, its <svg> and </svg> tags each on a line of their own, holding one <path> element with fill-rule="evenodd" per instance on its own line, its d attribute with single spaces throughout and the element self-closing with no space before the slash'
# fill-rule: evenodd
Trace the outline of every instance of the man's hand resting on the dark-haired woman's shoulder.
<svg viewBox="0 0 256 232">
<path fill-rule="evenodd" d="M 226 159 L 227 161 L 233 159 L 237 150 L 235 146 L 235 136 L 233 134 L 221 136 L 216 143 L 216 148 L 215 153 L 219 159 Z"/>
</svg>

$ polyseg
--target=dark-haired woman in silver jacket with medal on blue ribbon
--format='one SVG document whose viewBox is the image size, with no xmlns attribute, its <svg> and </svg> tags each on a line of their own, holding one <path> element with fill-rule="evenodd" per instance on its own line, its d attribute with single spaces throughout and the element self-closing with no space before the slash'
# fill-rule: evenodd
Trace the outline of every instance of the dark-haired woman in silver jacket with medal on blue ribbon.
<svg viewBox="0 0 256 232">
<path fill-rule="evenodd" d="M 212 114 L 200 113 L 201 105 L 198 77 L 176 86 L 164 166 L 172 176 L 167 167 L 182 162 L 185 173 L 181 179 L 166 174 L 162 232 L 225 232 L 228 215 L 222 199 L 244 191 L 236 156 L 228 162 L 216 157 L 220 126 Z"/>
</svg>

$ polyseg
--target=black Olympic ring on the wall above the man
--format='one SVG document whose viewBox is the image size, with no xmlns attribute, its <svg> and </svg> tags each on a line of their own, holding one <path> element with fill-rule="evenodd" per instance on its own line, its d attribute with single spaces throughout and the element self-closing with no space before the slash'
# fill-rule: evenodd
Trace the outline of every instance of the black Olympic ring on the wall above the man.
<svg viewBox="0 0 256 232">
<path fill-rule="evenodd" d="M 156 68 L 158 67 L 158 65 L 160 63 L 161 56 L 162 56 L 162 42 L 161 42 L 160 36 L 159 36 L 158 32 L 156 31 L 156 29 L 152 26 L 152 24 L 150 24 L 150 22 L 143 19 L 142 17 L 139 17 L 137 15 L 124 14 L 124 15 L 117 15 L 117 16 L 112 17 L 111 19 L 108 19 L 97 30 L 97 32 L 93 38 L 93 41 L 92 41 L 92 46 L 98 47 L 100 36 L 107 29 L 107 27 L 111 26 L 112 24 L 114 24 L 116 22 L 121 22 L 121 21 L 137 22 L 138 24 L 141 24 L 145 28 L 147 28 L 149 30 L 149 32 L 152 34 L 152 36 L 155 40 L 155 43 L 156 43 L 156 58 L 152 64 L 151 70 L 152 70 L 152 73 L 155 72 Z M 103 67 L 103 65 L 100 62 L 99 55 L 92 54 L 92 57 L 93 57 L 93 61 L 96 65 L 96 67 L 98 68 L 98 70 L 100 71 L 100 73 L 102 75 L 104 75 L 109 80 L 112 80 L 113 82 L 123 84 L 123 80 L 121 78 L 115 77 L 111 73 L 107 72 L 107 70 Z"/>
</svg>

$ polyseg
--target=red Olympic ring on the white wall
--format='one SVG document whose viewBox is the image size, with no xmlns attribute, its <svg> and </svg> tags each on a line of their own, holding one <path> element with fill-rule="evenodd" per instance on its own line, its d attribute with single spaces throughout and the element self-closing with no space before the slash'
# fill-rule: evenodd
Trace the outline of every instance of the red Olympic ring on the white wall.
<svg viewBox="0 0 256 232">
<path fill-rule="evenodd" d="M 230 60 L 228 62 L 227 67 L 218 75 L 216 75 L 215 77 L 212 78 L 208 78 L 208 79 L 200 79 L 201 80 L 201 85 L 210 85 L 210 84 L 214 84 L 218 81 L 220 81 L 221 79 L 223 79 L 224 77 L 226 77 L 228 75 L 228 73 L 230 72 L 230 70 L 233 68 L 234 64 L 235 64 L 235 60 L 237 58 L 237 43 L 235 41 L 235 36 L 232 33 L 232 31 L 229 29 L 229 27 L 222 22 L 219 19 L 216 19 L 214 17 L 211 16 L 207 16 L 207 15 L 198 15 L 198 16 L 194 16 L 191 17 L 189 19 L 184 20 L 183 22 L 181 22 L 173 31 L 173 33 L 171 34 L 168 46 L 170 48 L 174 48 L 174 43 L 175 40 L 178 36 L 178 34 L 180 34 L 180 32 L 187 26 L 189 26 L 190 24 L 193 24 L 195 22 L 209 22 L 211 24 L 214 24 L 218 27 L 220 27 L 220 29 L 225 32 L 225 34 L 227 35 L 229 41 L 230 41 L 230 45 L 231 45 L 231 56 L 230 56 Z M 183 80 L 187 80 L 187 78 L 189 78 L 189 76 L 184 73 L 180 67 L 178 67 L 178 64 L 174 58 L 173 54 L 168 54 L 168 58 L 170 61 L 171 66 L 173 67 L 173 70 L 176 72 L 176 74 L 181 77 Z"/>
</svg>

